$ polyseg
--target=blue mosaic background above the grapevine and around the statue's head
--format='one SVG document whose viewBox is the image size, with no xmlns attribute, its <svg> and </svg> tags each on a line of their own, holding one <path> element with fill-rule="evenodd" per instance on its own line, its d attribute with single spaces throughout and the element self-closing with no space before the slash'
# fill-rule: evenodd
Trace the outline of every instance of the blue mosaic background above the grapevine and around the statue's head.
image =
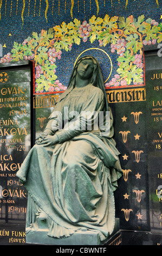
<svg viewBox="0 0 162 256">
<path fill-rule="evenodd" d="M 73 2 L 74 6 L 72 10 Z M 98 6 L 96 5 L 97 2 Z M 128 2 L 127 5 L 126 2 Z M 93 15 L 102 18 L 106 14 L 110 17 L 128 17 L 133 15 L 136 19 L 140 15 L 145 15 L 145 20 L 151 18 L 159 23 L 162 21 L 160 20 L 162 3 L 156 0 L 5 0 L 1 1 L 1 4 L 0 44 L 6 46 L 3 47 L 3 55 L 11 51 L 14 41 L 22 43 L 33 32 L 41 33 L 42 29 L 48 30 L 50 27 L 60 25 L 63 21 L 68 23 L 75 18 L 81 22 L 84 20 L 88 22 Z M 116 58 L 118 56 L 116 53 L 111 53 L 109 45 L 100 47 L 98 41 L 91 44 L 89 40 L 87 42 L 81 40 L 79 46 L 73 45 L 72 51 L 63 51 L 62 61 L 57 63 L 57 76 L 64 86 L 68 83 L 77 56 L 83 50 L 90 47 L 102 48 L 109 54 L 113 63 L 111 78 L 116 74 L 116 69 L 118 68 Z M 103 79 L 106 80 L 111 68 L 109 60 L 105 59 L 104 54 L 102 56 L 100 51 L 97 51 L 95 54 L 94 51 L 92 53 L 94 57 L 99 59 Z"/>
</svg>

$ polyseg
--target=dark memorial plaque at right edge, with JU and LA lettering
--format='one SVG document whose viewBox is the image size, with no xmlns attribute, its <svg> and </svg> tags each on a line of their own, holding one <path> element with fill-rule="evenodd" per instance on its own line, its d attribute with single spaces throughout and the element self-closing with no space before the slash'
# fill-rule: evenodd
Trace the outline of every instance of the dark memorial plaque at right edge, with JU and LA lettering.
<svg viewBox="0 0 162 256">
<path fill-rule="evenodd" d="M 157 51 L 146 52 L 146 109 L 150 223 L 152 233 L 162 230 L 162 63 Z"/>
</svg>

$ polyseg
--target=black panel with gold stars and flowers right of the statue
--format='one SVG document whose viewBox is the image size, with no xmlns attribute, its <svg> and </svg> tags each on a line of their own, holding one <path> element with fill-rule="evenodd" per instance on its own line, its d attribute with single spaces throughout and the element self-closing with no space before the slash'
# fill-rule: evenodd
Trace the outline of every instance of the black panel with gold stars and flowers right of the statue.
<svg viewBox="0 0 162 256">
<path fill-rule="evenodd" d="M 121 229 L 149 231 L 146 88 L 109 89 L 107 99 L 114 99 L 114 139 L 124 173 L 115 191 L 116 217 Z"/>
</svg>

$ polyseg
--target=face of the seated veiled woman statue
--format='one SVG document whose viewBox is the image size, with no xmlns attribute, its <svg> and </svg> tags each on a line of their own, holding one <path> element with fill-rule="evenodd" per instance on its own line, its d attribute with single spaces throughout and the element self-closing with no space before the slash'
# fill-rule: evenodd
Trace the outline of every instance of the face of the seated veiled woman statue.
<svg viewBox="0 0 162 256">
<path fill-rule="evenodd" d="M 90 78 L 93 74 L 93 60 L 83 59 L 81 60 L 79 66 L 77 67 L 77 74 L 84 80 Z"/>
</svg>

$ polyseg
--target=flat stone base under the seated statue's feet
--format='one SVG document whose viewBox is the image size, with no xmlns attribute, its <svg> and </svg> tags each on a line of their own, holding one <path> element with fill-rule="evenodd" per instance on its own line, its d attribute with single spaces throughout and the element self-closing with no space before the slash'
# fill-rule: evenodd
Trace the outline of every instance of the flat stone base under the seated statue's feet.
<svg viewBox="0 0 162 256">
<path fill-rule="evenodd" d="M 44 227 L 43 223 L 39 223 L 39 229 L 29 232 L 26 235 L 26 243 L 35 243 L 39 245 L 109 245 L 116 241 L 116 245 L 121 242 L 119 239 L 119 218 L 115 218 L 115 227 L 111 236 L 107 237 L 105 241 L 100 242 L 99 234 L 97 232 L 84 230 L 77 231 L 72 236 L 56 239 L 48 236 L 48 229 Z M 118 239 L 118 241 L 117 241 Z"/>
</svg>

